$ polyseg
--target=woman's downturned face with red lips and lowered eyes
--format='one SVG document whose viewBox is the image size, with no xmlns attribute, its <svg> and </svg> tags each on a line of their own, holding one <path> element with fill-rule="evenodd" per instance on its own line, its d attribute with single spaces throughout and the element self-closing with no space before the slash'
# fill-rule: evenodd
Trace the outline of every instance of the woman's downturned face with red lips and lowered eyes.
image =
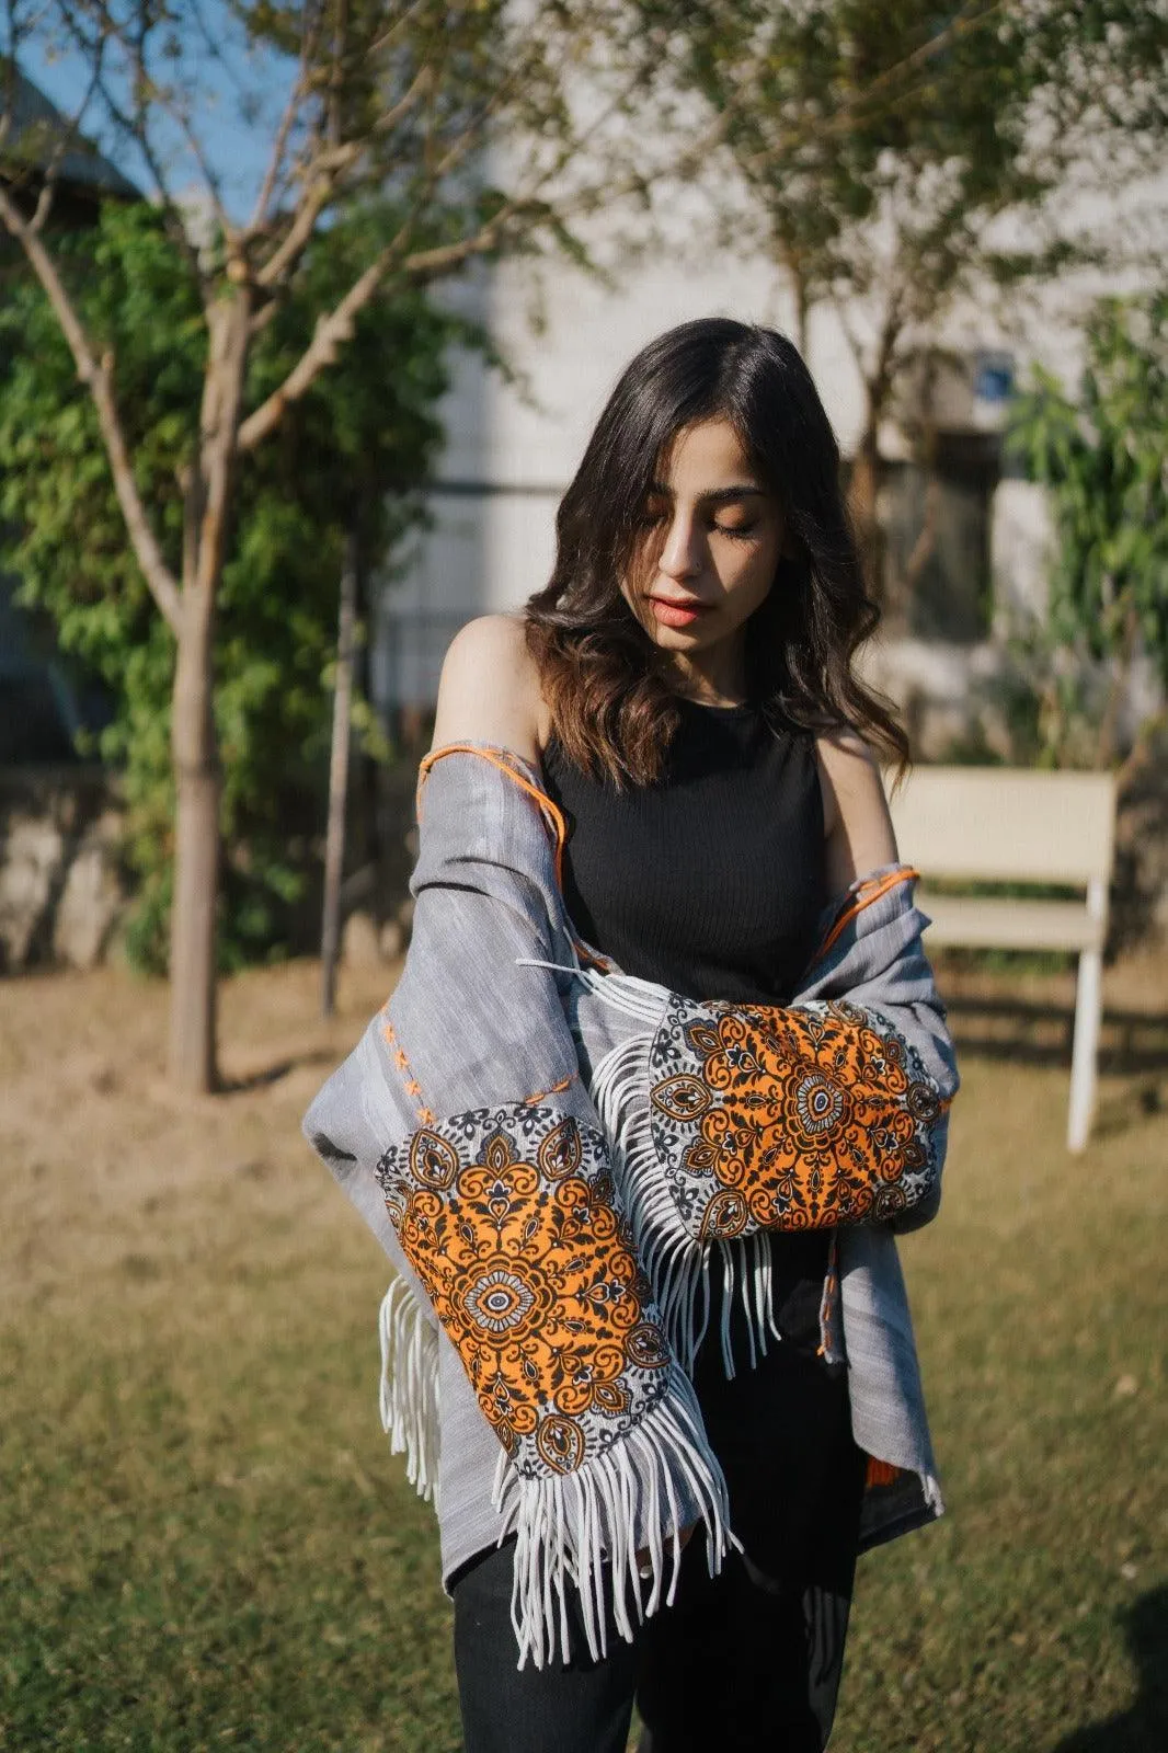
<svg viewBox="0 0 1168 1753">
<path fill-rule="evenodd" d="M 768 594 L 782 515 L 728 421 L 679 433 L 644 508 L 644 538 L 621 591 L 679 673 L 742 685 L 749 615 Z"/>
</svg>

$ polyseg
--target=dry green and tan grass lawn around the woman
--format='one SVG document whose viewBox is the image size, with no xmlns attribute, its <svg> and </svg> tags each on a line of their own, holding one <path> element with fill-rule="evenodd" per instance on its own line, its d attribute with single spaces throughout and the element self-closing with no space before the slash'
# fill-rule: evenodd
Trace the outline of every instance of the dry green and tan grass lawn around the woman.
<svg viewBox="0 0 1168 1753">
<path fill-rule="evenodd" d="M 0 1748 L 458 1748 L 381 1255 L 298 1132 L 381 996 L 231 982 L 182 1101 L 160 989 L 0 983 Z M 1079 1159 L 1065 1066 L 963 1061 L 903 1248 L 949 1515 L 861 1564 L 833 1753 L 1168 1749 L 1166 1033 Z"/>
</svg>

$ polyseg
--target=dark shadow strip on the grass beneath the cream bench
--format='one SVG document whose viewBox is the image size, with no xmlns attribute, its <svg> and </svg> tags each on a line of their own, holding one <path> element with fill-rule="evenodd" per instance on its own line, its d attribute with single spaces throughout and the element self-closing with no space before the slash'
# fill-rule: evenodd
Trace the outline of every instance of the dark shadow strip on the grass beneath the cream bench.
<svg viewBox="0 0 1168 1753">
<path fill-rule="evenodd" d="M 1007 994 L 944 997 L 959 1048 L 1014 1064 L 1070 1069 L 1075 1013 L 1068 1006 Z M 1119 1076 L 1168 1071 L 1168 1013 L 1105 1010 L 1100 1071 Z"/>
</svg>

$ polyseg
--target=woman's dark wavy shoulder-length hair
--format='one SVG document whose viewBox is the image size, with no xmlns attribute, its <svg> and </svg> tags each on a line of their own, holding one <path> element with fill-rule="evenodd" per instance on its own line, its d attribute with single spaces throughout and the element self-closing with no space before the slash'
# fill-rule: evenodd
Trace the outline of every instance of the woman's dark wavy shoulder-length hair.
<svg viewBox="0 0 1168 1753">
<path fill-rule="evenodd" d="M 879 622 L 844 503 L 840 452 L 800 354 L 775 330 L 705 317 L 658 337 L 623 373 L 556 514 L 556 564 L 524 607 L 565 754 L 614 785 L 651 784 L 679 724 L 659 649 L 621 594 L 651 484 L 679 433 L 728 421 L 779 501 L 784 549 L 747 621 L 751 698 L 772 722 L 851 727 L 903 770 L 889 701 L 852 671 Z"/>
</svg>

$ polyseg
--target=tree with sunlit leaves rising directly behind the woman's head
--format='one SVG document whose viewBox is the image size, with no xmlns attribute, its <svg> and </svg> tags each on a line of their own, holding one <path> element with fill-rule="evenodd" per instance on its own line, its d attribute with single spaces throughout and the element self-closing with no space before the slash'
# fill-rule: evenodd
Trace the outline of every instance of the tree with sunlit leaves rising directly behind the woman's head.
<svg viewBox="0 0 1168 1753">
<path fill-rule="evenodd" d="M 965 293 L 1089 254 L 1050 210 L 1070 167 L 1156 163 L 1168 18 L 1145 0 L 644 0 L 721 119 L 796 340 L 831 307 L 865 387 L 852 505 L 870 552 L 880 426 Z M 1128 144 L 1121 165 L 1115 140 Z M 935 361 L 933 361 L 935 363 Z M 877 568 L 873 568 L 877 570 Z"/>
</svg>

